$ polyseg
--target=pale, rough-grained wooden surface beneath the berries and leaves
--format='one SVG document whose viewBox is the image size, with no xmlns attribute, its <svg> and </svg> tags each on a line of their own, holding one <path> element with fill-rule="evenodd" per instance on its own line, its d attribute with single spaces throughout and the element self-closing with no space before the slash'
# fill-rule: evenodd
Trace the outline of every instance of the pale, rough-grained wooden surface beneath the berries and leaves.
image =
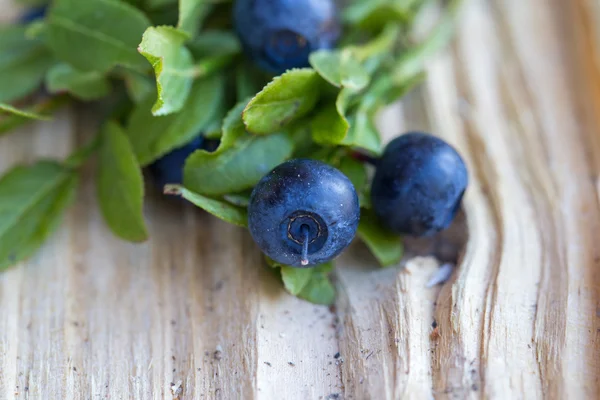
<svg viewBox="0 0 600 400">
<path fill-rule="evenodd" d="M 599 398 L 600 5 L 467 3 L 382 125 L 432 130 L 468 161 L 449 282 L 425 287 L 431 257 L 380 270 L 357 244 L 336 306 L 317 307 L 285 294 L 246 232 L 197 210 L 152 198 L 152 239 L 114 239 L 90 182 L 50 243 L 0 275 L 0 398 Z M 89 120 L 1 138 L 0 168 L 65 156 Z"/>
</svg>

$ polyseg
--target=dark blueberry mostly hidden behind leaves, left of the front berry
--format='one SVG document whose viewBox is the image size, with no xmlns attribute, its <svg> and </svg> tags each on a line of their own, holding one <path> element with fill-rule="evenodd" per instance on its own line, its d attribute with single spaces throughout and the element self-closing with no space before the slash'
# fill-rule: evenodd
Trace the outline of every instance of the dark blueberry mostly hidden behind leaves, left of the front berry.
<svg viewBox="0 0 600 400">
<path fill-rule="evenodd" d="M 165 185 L 181 184 L 185 159 L 194 151 L 203 148 L 204 137 L 198 136 L 190 143 L 179 147 L 154 161 L 148 168 L 156 185 L 162 190 Z"/>
</svg>

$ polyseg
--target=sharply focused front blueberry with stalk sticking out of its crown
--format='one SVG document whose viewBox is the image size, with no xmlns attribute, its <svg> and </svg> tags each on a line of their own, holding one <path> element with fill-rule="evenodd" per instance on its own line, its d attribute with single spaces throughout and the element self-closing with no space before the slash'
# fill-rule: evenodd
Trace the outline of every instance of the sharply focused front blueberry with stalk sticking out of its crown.
<svg viewBox="0 0 600 400">
<path fill-rule="evenodd" d="M 360 219 L 352 182 L 315 160 L 287 161 L 254 187 L 248 227 L 260 249 L 295 267 L 321 264 L 339 255 Z"/>
</svg>

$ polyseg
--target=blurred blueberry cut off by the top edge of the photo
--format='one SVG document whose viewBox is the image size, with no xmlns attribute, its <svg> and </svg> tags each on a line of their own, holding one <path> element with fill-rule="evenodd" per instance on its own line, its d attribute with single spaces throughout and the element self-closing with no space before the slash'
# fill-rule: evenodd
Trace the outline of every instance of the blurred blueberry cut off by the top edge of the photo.
<svg viewBox="0 0 600 400">
<path fill-rule="evenodd" d="M 333 0 L 237 0 L 233 19 L 246 53 L 274 74 L 308 67 L 309 54 L 340 35 Z"/>
</svg>

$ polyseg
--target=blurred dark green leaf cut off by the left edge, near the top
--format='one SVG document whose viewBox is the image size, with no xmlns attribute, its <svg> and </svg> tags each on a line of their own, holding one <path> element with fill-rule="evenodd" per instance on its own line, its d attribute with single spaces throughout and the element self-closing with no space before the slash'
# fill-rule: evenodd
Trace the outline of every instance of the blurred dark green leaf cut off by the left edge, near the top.
<svg viewBox="0 0 600 400">
<path fill-rule="evenodd" d="M 42 41 L 29 39 L 25 26 L 0 26 L 0 102 L 35 91 L 53 63 Z"/>
</svg>

